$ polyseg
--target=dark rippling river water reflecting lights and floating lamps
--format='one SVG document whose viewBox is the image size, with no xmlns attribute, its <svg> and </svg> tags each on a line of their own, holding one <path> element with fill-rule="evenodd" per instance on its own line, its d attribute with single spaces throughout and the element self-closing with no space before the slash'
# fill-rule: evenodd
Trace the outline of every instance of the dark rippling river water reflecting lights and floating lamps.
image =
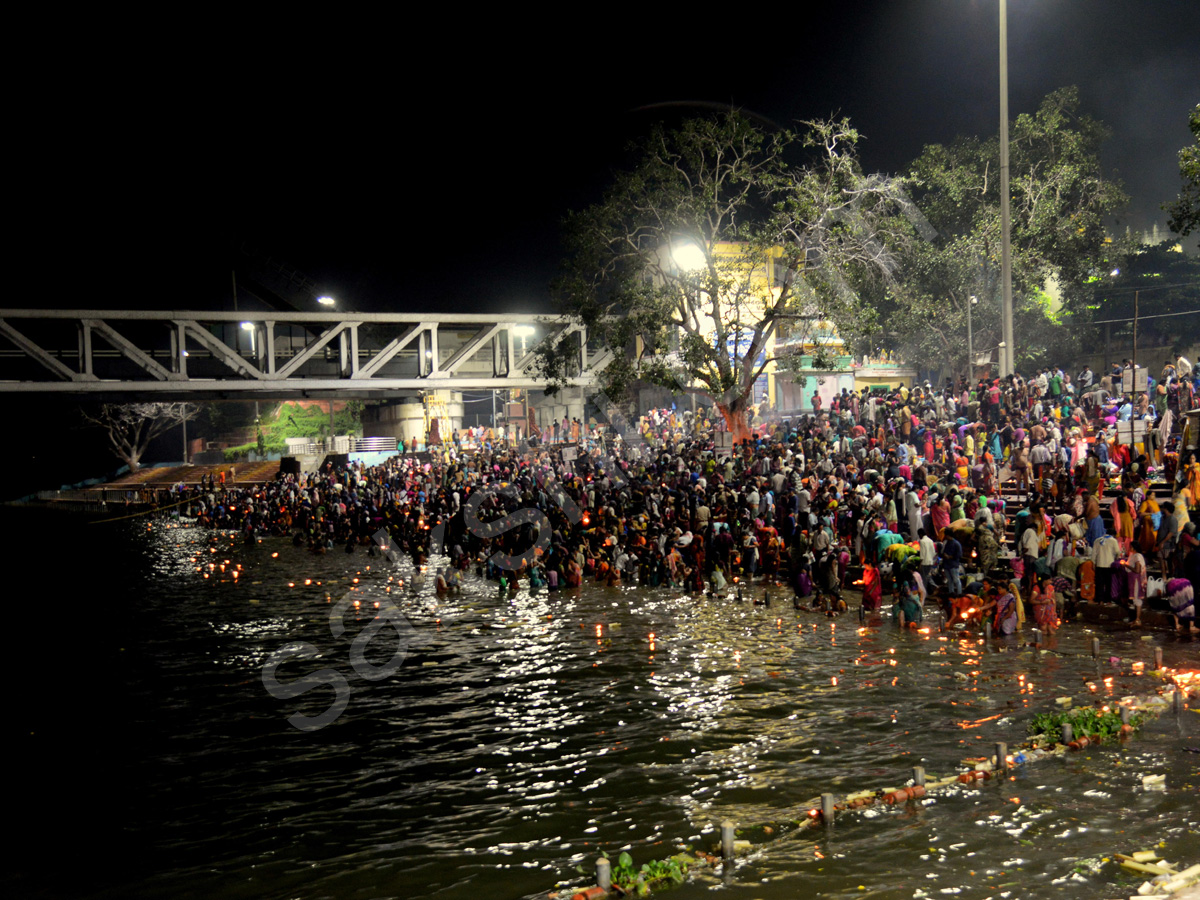
<svg viewBox="0 0 1200 900">
<path fill-rule="evenodd" d="M 822 791 L 899 787 L 914 764 L 949 773 L 1022 739 L 1057 697 L 1159 688 L 1110 655 L 1160 646 L 1200 667 L 1200 644 L 1160 634 L 1102 635 L 1098 668 L 1082 626 L 1060 635 L 1068 655 L 1036 658 L 1015 640 L 860 631 L 853 616 L 833 629 L 782 590 L 772 608 L 595 586 L 502 596 L 469 575 L 452 600 L 394 589 L 407 624 L 366 658 L 403 665 L 366 680 L 352 642 L 410 566 L 144 520 L 0 521 L 18 896 L 544 895 L 590 883 L 575 866 L 600 850 L 641 864 L 709 845 L 725 818 L 794 818 Z M 335 636 L 330 610 L 354 587 L 360 611 Z M 320 714 L 332 689 L 281 700 L 263 682 L 296 642 L 320 656 L 284 662 L 278 683 L 335 670 L 349 686 L 318 731 L 288 716 Z M 1124 746 L 847 814 L 828 834 L 760 836 L 731 875 L 667 895 L 1127 896 L 1140 881 L 1104 857 L 1163 842 L 1200 862 L 1198 745 L 1200 715 L 1163 715 Z M 1157 774 L 1165 790 L 1144 788 Z"/>
</svg>

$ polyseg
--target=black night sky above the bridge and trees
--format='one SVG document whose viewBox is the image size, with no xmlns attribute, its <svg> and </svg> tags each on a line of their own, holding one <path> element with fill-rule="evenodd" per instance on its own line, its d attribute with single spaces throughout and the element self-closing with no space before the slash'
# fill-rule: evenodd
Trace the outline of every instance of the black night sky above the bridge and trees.
<svg viewBox="0 0 1200 900">
<path fill-rule="evenodd" d="M 346 308 L 541 311 L 563 215 L 691 103 L 847 115 L 882 172 L 997 130 L 997 0 L 719 12 L 104 23 L 10 113 L 20 246 L 53 266 L 20 305 L 220 307 L 247 241 Z M 1012 114 L 1078 85 L 1133 197 L 1117 227 L 1165 224 L 1198 48 L 1195 0 L 1012 0 Z"/>
</svg>

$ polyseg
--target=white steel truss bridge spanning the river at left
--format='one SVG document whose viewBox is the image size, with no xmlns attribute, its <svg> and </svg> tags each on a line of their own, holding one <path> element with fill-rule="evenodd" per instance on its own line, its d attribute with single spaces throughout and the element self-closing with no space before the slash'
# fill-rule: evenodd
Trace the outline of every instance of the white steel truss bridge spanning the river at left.
<svg viewBox="0 0 1200 900">
<path fill-rule="evenodd" d="M 562 341 L 578 360 L 575 383 L 594 385 L 612 354 L 589 348 L 584 326 L 563 317 L 0 310 L 0 392 L 128 401 L 530 390 L 545 386 L 530 365 L 536 347 Z"/>
</svg>

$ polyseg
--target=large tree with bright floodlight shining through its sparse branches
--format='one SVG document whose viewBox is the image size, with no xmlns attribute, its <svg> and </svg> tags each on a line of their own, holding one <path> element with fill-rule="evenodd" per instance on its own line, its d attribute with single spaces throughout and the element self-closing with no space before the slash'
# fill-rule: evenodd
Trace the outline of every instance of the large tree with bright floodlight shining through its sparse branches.
<svg viewBox="0 0 1200 900">
<path fill-rule="evenodd" d="M 902 192 L 865 175 L 845 120 L 767 133 L 730 112 L 656 128 L 595 205 L 566 222 L 556 293 L 589 337 L 613 350 L 604 388 L 637 382 L 710 400 L 745 437 L 772 338 L 830 319 L 869 317 L 856 290 L 890 278 Z M 793 156 L 802 157 L 793 162 Z M 550 386 L 569 383 L 571 353 L 541 355 Z"/>
</svg>

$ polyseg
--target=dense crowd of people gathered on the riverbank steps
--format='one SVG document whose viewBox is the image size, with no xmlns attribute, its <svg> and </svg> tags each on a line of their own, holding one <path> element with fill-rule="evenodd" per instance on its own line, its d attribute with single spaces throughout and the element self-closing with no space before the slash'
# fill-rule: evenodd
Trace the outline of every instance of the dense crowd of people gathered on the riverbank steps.
<svg viewBox="0 0 1200 900">
<path fill-rule="evenodd" d="M 178 502 L 247 540 L 289 535 L 317 553 L 374 553 L 386 528 L 418 566 L 445 554 L 439 590 L 472 569 L 502 589 L 788 584 L 797 606 L 836 614 L 853 588 L 868 611 L 890 598 L 912 626 L 938 602 L 998 634 L 1026 617 L 1054 630 L 1099 602 L 1134 626 L 1159 606 L 1194 632 L 1200 373 L 1181 358 L 1136 394 L 1122 390 L 1132 376 L 844 390 L 811 413 L 754 418 L 732 448 L 708 407 L 619 431 L 572 421 L 535 446 L 492 436 L 464 450 L 454 436 L 380 466 L 181 485 Z M 503 521 L 521 509 L 541 515 Z M 490 562 L 502 554 L 521 562 Z"/>
</svg>

